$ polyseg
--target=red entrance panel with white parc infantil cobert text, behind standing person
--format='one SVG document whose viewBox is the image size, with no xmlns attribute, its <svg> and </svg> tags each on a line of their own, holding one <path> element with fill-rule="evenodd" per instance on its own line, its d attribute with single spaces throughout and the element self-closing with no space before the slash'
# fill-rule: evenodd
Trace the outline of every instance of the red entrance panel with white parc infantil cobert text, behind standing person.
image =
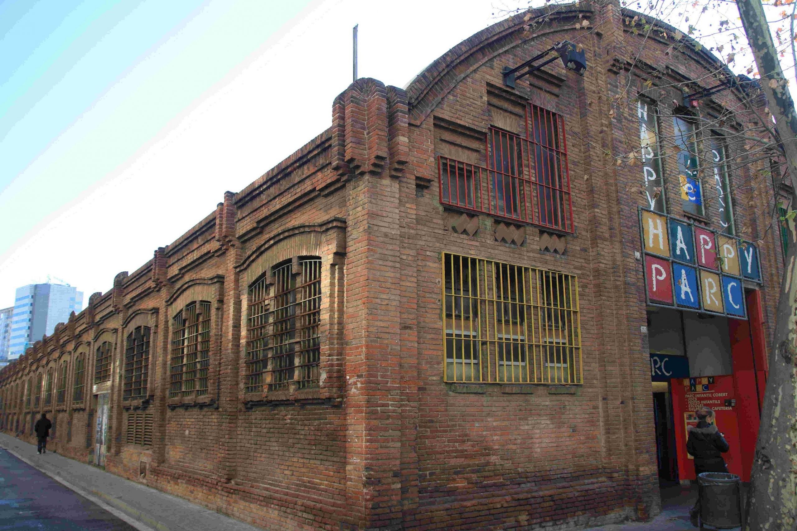
<svg viewBox="0 0 797 531">
<path fill-rule="evenodd" d="M 739 422 L 736 418 L 736 396 L 733 376 L 702 376 L 670 380 L 673 396 L 673 419 L 677 446 L 678 478 L 695 479 L 694 461 L 686 451 L 687 427 L 697 425 L 695 410 L 707 406 L 714 410 L 717 429 L 724 434 L 730 450 L 722 454 L 728 472 L 738 474 L 743 482 L 750 481 L 742 473 L 742 453 Z M 749 474 L 748 474 L 749 475 Z"/>
</svg>

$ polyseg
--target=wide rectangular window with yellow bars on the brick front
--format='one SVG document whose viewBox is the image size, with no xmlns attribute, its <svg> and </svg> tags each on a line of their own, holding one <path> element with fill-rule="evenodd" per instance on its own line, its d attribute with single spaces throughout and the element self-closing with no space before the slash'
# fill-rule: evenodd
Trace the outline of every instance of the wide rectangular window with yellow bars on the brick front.
<svg viewBox="0 0 797 531">
<path fill-rule="evenodd" d="M 443 254 L 448 382 L 581 384 L 573 275 Z"/>
</svg>

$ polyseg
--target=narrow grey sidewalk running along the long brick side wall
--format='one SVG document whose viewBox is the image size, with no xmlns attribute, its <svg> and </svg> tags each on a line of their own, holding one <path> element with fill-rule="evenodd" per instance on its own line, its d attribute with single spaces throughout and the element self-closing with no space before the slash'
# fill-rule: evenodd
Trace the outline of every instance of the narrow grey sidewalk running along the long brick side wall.
<svg viewBox="0 0 797 531">
<path fill-rule="evenodd" d="M 0 433 L 0 447 L 94 501 L 139 531 L 263 531 L 183 498 L 131 482 L 60 454 L 39 455 L 36 446 Z"/>
</svg>

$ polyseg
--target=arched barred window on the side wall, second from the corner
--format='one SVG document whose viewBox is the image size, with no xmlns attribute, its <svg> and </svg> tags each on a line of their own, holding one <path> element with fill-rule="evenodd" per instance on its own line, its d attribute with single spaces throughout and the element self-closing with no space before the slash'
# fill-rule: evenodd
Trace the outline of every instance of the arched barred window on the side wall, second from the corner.
<svg viewBox="0 0 797 531">
<path fill-rule="evenodd" d="M 180 310 L 171 334 L 169 396 L 206 395 L 210 367 L 210 302 L 194 301 Z"/>
</svg>

